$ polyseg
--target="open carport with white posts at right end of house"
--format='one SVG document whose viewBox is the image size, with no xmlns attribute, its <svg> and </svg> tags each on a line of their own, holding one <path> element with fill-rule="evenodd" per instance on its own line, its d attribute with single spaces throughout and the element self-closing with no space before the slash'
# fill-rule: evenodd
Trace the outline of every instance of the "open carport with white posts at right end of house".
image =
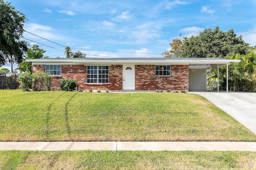
<svg viewBox="0 0 256 170">
<path fill-rule="evenodd" d="M 217 90 L 219 92 L 219 68 L 226 66 L 226 92 L 228 92 L 228 65 L 239 62 L 240 60 L 217 58 L 192 59 L 189 64 L 189 90 L 207 90 L 207 70 L 210 70 L 210 79 L 212 79 L 212 69 L 218 68 Z M 212 91 L 212 81 L 210 81 L 210 91 Z"/>
</svg>

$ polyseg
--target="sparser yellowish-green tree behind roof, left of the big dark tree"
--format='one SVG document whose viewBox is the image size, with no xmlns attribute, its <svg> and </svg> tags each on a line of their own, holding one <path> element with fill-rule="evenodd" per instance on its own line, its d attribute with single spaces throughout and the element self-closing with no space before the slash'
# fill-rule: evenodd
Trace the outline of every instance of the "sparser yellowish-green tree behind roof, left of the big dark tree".
<svg viewBox="0 0 256 170">
<path fill-rule="evenodd" d="M 179 35 L 179 37 L 181 37 L 181 34 Z M 164 58 L 172 58 L 172 57 L 180 58 L 182 53 L 182 43 L 183 43 L 182 37 L 180 39 L 179 38 L 173 39 L 172 43 L 170 43 L 171 49 L 164 51 L 164 53 L 162 53 L 161 55 Z"/>
</svg>

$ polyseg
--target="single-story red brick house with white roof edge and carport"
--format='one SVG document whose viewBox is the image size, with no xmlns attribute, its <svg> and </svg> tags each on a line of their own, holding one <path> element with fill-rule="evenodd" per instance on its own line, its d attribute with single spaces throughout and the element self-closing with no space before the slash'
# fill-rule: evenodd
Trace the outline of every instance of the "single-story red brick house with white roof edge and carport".
<svg viewBox="0 0 256 170">
<path fill-rule="evenodd" d="M 231 59 L 216 58 L 48 58 L 30 59 L 33 73 L 73 79 L 79 90 L 206 90 L 207 69 L 227 66 Z M 228 91 L 228 81 L 227 81 Z"/>
</svg>

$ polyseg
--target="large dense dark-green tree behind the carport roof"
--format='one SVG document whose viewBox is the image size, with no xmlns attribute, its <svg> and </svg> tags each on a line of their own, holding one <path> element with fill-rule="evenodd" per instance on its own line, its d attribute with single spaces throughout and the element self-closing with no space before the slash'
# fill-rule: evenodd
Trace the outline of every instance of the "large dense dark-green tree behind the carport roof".
<svg viewBox="0 0 256 170">
<path fill-rule="evenodd" d="M 221 31 L 217 26 L 205 29 L 198 36 L 184 37 L 181 57 L 225 58 L 234 54 L 245 55 L 249 44 L 242 36 L 237 37 L 233 29 Z"/>
</svg>

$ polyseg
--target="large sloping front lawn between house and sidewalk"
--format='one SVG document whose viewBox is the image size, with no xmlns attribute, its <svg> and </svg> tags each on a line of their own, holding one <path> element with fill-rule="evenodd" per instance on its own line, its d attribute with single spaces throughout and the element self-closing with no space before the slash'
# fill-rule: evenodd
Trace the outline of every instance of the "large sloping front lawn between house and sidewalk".
<svg viewBox="0 0 256 170">
<path fill-rule="evenodd" d="M 0 90 L 0 141 L 256 141 L 195 94 Z"/>
</svg>

